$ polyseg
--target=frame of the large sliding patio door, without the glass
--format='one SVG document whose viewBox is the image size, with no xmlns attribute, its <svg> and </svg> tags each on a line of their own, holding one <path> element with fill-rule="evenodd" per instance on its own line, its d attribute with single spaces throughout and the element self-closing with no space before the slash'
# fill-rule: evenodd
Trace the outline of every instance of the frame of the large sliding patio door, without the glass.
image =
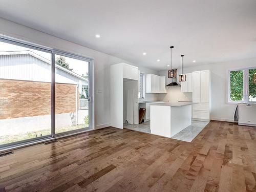
<svg viewBox="0 0 256 192">
<path fill-rule="evenodd" d="M 94 59 L 93 58 L 89 58 L 89 57 L 85 57 L 85 56 L 81 56 L 78 55 L 76 53 L 72 53 L 72 52 L 67 52 L 67 51 L 62 51 L 59 49 L 54 49 L 54 48 L 50 48 L 50 47 L 46 47 L 46 46 L 42 46 L 42 45 L 38 45 L 38 44 L 34 44 L 33 42 L 29 42 L 29 41 L 24 41 L 18 38 L 12 38 L 12 37 L 8 37 L 5 35 L 0 34 L 0 41 L 1 42 L 6 42 L 8 44 L 12 44 L 12 45 L 17 45 L 17 46 L 22 46 L 22 47 L 27 47 L 27 48 L 31 48 L 31 49 L 35 49 L 38 51 L 44 51 L 47 53 L 51 53 L 51 62 L 52 62 L 52 69 L 51 69 L 51 135 L 49 136 L 42 136 L 42 137 L 38 137 L 38 138 L 31 138 L 31 139 L 26 139 L 26 140 L 22 140 L 22 141 L 15 141 L 12 143 L 7 143 L 7 144 L 1 144 L 0 145 L 0 152 L 5 152 L 8 150 L 13 150 L 15 148 L 20 148 L 20 147 L 24 147 L 24 146 L 29 146 L 29 145 L 33 145 L 33 144 L 37 144 L 37 143 L 42 143 L 42 142 L 46 142 L 46 141 L 51 141 L 51 140 L 55 140 L 58 138 L 62 138 L 62 137 L 68 137 L 71 135 L 76 135 L 79 133 L 84 133 L 84 132 L 88 132 L 88 131 L 92 131 L 95 130 L 95 82 L 94 82 Z M 63 55 L 63 56 L 67 56 L 67 57 L 71 57 L 74 59 L 79 59 L 79 60 L 84 60 L 88 62 L 89 65 L 89 70 L 88 70 L 88 74 L 89 74 L 89 130 L 85 130 L 85 129 L 77 129 L 77 130 L 73 130 L 73 131 L 68 131 L 68 132 L 64 132 L 64 133 L 60 133 L 60 134 L 55 134 L 55 55 Z"/>
</svg>

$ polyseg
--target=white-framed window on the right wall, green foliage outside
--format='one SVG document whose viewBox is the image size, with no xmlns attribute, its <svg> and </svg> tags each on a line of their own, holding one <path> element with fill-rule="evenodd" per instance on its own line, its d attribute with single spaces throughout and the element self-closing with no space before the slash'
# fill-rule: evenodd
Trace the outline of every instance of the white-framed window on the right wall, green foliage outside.
<svg viewBox="0 0 256 192">
<path fill-rule="evenodd" d="M 256 68 L 228 71 L 228 102 L 256 102 Z"/>
</svg>

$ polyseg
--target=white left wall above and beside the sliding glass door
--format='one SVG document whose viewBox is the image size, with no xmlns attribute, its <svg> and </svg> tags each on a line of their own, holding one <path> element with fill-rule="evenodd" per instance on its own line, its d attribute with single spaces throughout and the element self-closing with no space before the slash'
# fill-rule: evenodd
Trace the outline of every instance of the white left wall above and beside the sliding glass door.
<svg viewBox="0 0 256 192">
<path fill-rule="evenodd" d="M 10 22 L 0 18 L 0 34 L 32 42 L 41 46 L 54 48 L 84 57 L 94 59 L 95 63 L 95 124 L 96 129 L 109 126 L 110 124 L 110 65 L 119 62 L 126 62 L 130 65 L 139 67 L 134 63 L 123 59 L 89 49 L 87 47 L 74 44 L 73 42 L 63 40 L 52 35 Z M 141 72 L 155 73 L 156 71 L 146 68 L 140 68 Z M 155 95 L 147 95 L 148 99 L 157 98 Z"/>
</svg>

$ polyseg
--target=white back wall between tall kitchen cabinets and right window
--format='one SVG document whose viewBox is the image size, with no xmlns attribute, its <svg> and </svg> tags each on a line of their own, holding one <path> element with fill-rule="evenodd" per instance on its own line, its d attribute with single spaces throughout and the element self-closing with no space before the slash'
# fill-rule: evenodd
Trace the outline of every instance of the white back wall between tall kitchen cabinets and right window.
<svg viewBox="0 0 256 192">
<path fill-rule="evenodd" d="M 193 71 L 211 71 L 211 119 L 233 121 L 233 113 L 236 104 L 227 103 L 227 73 L 229 69 L 239 69 L 246 67 L 256 67 L 256 58 L 212 63 L 209 65 L 191 66 L 184 68 L 184 73 Z M 180 70 L 179 70 L 180 71 Z M 159 72 L 159 75 L 167 75 L 167 71 Z M 164 96 L 170 101 L 177 101 L 178 98 L 185 99 L 186 94 L 180 92 L 180 87 L 171 88 L 172 90 Z M 192 99 L 191 95 L 187 97 Z M 181 99 L 180 99 L 181 100 Z"/>
</svg>

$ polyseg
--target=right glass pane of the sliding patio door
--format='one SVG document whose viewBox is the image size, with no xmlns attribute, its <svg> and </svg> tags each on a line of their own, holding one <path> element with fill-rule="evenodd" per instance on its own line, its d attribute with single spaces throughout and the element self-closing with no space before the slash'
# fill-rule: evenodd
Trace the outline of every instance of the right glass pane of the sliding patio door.
<svg viewBox="0 0 256 192">
<path fill-rule="evenodd" d="M 55 54 L 55 133 L 89 129 L 89 62 Z"/>
</svg>

